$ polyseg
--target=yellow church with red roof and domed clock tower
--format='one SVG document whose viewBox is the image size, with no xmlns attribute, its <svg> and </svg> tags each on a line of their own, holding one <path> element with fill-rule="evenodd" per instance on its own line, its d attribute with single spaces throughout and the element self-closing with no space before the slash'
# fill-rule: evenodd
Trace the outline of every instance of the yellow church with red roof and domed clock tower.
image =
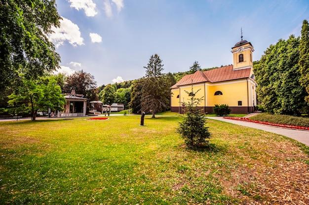
<svg viewBox="0 0 309 205">
<path fill-rule="evenodd" d="M 185 92 L 196 93 L 196 98 L 203 98 L 198 107 L 205 113 L 213 113 L 213 107 L 227 104 L 231 113 L 246 114 L 254 112 L 256 106 L 256 82 L 253 74 L 250 42 L 242 40 L 232 47 L 233 64 L 206 71 L 196 71 L 184 76 L 171 87 L 171 111 L 183 113 L 184 102 L 190 96 Z"/>
</svg>

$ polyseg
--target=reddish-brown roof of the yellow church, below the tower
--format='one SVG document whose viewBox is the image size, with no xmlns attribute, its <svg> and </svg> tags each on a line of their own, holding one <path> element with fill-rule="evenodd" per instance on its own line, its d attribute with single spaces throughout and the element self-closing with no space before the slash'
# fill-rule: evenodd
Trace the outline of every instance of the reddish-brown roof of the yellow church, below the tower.
<svg viewBox="0 0 309 205">
<path fill-rule="evenodd" d="M 227 65 L 212 70 L 196 71 L 193 74 L 185 75 L 171 88 L 202 82 L 216 83 L 221 81 L 249 78 L 250 70 L 250 68 L 233 70 L 232 65 Z"/>
</svg>

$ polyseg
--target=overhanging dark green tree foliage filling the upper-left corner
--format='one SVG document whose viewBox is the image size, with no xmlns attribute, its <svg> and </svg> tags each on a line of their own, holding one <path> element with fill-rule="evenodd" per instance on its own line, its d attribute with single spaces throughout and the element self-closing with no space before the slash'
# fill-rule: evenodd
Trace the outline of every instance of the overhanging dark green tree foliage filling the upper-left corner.
<svg viewBox="0 0 309 205">
<path fill-rule="evenodd" d="M 59 67 L 46 34 L 60 26 L 55 0 L 1 0 L 0 92 L 20 79 L 38 79 Z"/>
</svg>

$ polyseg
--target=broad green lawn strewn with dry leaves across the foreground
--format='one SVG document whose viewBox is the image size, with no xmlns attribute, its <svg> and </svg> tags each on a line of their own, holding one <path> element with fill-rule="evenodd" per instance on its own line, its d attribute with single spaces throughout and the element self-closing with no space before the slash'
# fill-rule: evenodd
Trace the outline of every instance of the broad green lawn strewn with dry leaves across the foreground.
<svg viewBox="0 0 309 205">
<path fill-rule="evenodd" d="M 181 117 L 139 118 L 0 122 L 0 204 L 309 204 L 307 146 L 207 120 L 189 150 Z"/>
</svg>

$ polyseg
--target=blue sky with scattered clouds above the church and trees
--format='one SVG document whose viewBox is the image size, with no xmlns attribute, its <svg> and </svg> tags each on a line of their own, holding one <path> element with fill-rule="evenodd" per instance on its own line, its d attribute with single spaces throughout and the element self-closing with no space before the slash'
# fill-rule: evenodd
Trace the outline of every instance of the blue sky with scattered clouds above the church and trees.
<svg viewBox="0 0 309 205">
<path fill-rule="evenodd" d="M 50 39 L 63 70 L 83 69 L 98 86 L 144 76 L 155 53 L 164 72 L 186 71 L 194 60 L 202 68 L 232 64 L 241 27 L 258 60 L 309 19 L 308 0 L 57 0 L 57 7 L 64 20 Z"/>
</svg>

